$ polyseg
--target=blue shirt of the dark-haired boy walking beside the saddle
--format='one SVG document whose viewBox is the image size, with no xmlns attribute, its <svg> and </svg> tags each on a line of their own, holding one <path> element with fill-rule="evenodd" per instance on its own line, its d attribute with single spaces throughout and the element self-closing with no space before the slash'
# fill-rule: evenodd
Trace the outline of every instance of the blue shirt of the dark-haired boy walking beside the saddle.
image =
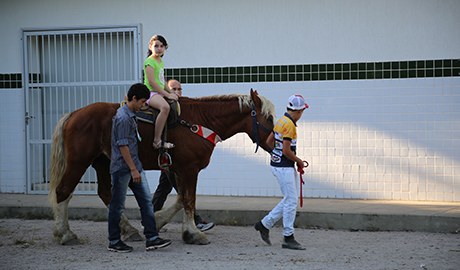
<svg viewBox="0 0 460 270">
<path fill-rule="evenodd" d="M 112 118 L 112 157 L 110 161 L 110 173 L 118 171 L 130 171 L 125 159 L 121 155 L 120 146 L 127 145 L 131 158 L 139 172 L 142 172 L 142 164 L 139 160 L 137 148 L 137 121 L 134 113 L 127 105 L 119 108 Z"/>
</svg>

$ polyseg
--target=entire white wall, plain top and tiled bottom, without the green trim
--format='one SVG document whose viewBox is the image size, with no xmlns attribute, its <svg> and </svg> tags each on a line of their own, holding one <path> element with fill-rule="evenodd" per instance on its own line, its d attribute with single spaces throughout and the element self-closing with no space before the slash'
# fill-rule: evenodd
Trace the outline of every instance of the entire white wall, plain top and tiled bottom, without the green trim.
<svg viewBox="0 0 460 270">
<path fill-rule="evenodd" d="M 0 73 L 22 72 L 24 28 L 134 24 L 142 25 L 143 56 L 152 34 L 167 38 L 167 67 L 459 59 L 458 14 L 456 0 L 3 1 Z M 184 88 L 189 96 L 257 88 L 278 116 L 289 95 L 304 94 L 311 108 L 299 123 L 299 155 L 311 164 L 307 196 L 460 201 L 458 77 Z M 24 127 L 11 127 L 5 114 L 17 111 L 23 123 L 23 93 L 0 89 L 0 100 L 7 103 L 0 108 L 0 191 L 24 192 Z M 198 192 L 279 195 L 268 155 L 253 151 L 246 136 L 220 144 Z"/>
</svg>

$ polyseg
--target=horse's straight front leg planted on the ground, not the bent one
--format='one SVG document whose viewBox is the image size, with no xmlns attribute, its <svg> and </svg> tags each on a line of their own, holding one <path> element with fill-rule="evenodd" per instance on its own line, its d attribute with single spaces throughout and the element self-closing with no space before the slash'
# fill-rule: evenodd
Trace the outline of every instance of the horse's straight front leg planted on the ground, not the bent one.
<svg viewBox="0 0 460 270">
<path fill-rule="evenodd" d="M 187 244 L 207 245 L 209 240 L 206 234 L 198 230 L 195 224 L 195 199 L 196 182 L 198 173 L 186 181 L 178 183 L 180 185 L 180 196 L 184 205 L 184 219 L 182 223 L 182 240 Z"/>
</svg>

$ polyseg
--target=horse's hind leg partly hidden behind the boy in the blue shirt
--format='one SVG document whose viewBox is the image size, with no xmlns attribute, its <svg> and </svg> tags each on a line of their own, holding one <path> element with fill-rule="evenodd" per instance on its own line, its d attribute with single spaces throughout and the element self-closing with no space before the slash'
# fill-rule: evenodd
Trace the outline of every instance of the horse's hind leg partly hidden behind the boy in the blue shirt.
<svg viewBox="0 0 460 270">
<path fill-rule="evenodd" d="M 109 206 L 112 199 L 111 178 L 110 178 L 110 160 L 105 155 L 100 155 L 92 164 L 97 174 L 97 194 L 104 202 L 105 206 Z M 139 231 L 134 228 L 125 214 L 121 215 L 120 220 L 121 238 L 123 241 L 142 241 L 143 238 Z"/>
</svg>

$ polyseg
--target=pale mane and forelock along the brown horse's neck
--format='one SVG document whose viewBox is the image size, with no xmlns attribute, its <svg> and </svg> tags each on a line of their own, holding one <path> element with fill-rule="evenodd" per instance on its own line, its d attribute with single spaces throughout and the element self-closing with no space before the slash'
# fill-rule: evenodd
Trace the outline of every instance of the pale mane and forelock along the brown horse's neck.
<svg viewBox="0 0 460 270">
<path fill-rule="evenodd" d="M 273 117 L 275 119 L 275 105 L 268 100 L 266 97 L 258 95 L 262 102 L 261 114 L 268 118 Z M 232 101 L 237 99 L 240 105 L 240 111 L 243 110 L 243 107 L 251 108 L 251 96 L 250 95 L 242 95 L 242 94 L 232 94 L 232 95 L 215 95 L 215 96 L 206 96 L 206 97 L 199 97 L 199 98 L 189 98 L 184 97 L 190 101 L 197 101 L 197 102 L 225 102 L 225 101 Z"/>
</svg>

